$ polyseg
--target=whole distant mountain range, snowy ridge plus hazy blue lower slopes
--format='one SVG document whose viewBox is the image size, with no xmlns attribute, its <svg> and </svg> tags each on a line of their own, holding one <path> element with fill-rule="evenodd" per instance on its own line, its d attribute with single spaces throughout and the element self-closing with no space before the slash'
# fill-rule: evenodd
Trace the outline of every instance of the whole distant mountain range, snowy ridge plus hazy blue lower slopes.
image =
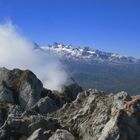
<svg viewBox="0 0 140 140">
<path fill-rule="evenodd" d="M 84 89 L 96 88 L 113 93 L 124 90 L 130 94 L 140 92 L 139 59 L 59 43 L 39 48 L 55 54 L 67 73 Z"/>
</svg>

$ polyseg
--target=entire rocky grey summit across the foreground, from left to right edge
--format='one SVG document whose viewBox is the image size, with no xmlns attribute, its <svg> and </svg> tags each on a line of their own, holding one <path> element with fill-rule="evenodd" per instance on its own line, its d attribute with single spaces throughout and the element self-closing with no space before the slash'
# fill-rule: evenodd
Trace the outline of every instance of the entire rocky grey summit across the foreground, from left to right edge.
<svg viewBox="0 0 140 140">
<path fill-rule="evenodd" d="M 0 68 L 0 140 L 140 140 L 140 96 L 43 88 L 29 70 Z"/>
</svg>

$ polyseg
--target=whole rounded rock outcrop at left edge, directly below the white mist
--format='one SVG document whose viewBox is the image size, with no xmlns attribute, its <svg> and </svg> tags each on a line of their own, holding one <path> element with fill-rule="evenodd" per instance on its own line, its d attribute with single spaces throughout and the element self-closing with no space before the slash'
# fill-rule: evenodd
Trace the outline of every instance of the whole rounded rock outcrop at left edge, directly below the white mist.
<svg viewBox="0 0 140 140">
<path fill-rule="evenodd" d="M 40 99 L 42 90 L 42 83 L 31 71 L 0 69 L 2 102 L 19 104 L 25 110 Z"/>
</svg>

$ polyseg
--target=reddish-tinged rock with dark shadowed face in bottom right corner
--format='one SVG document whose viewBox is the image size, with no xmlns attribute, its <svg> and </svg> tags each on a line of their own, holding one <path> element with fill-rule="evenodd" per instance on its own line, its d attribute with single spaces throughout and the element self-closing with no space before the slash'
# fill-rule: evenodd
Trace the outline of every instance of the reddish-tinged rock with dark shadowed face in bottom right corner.
<svg viewBox="0 0 140 140">
<path fill-rule="evenodd" d="M 105 125 L 99 140 L 139 140 L 139 106 L 140 98 L 127 102 Z"/>
</svg>

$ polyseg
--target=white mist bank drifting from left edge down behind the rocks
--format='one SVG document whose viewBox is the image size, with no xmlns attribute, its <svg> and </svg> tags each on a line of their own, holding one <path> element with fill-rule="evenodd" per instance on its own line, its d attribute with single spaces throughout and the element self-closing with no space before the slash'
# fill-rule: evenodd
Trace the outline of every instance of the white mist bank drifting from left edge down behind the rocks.
<svg viewBox="0 0 140 140">
<path fill-rule="evenodd" d="M 46 88 L 61 90 L 67 74 L 59 60 L 41 50 L 17 32 L 11 22 L 0 25 L 0 67 L 30 69 Z"/>
</svg>

